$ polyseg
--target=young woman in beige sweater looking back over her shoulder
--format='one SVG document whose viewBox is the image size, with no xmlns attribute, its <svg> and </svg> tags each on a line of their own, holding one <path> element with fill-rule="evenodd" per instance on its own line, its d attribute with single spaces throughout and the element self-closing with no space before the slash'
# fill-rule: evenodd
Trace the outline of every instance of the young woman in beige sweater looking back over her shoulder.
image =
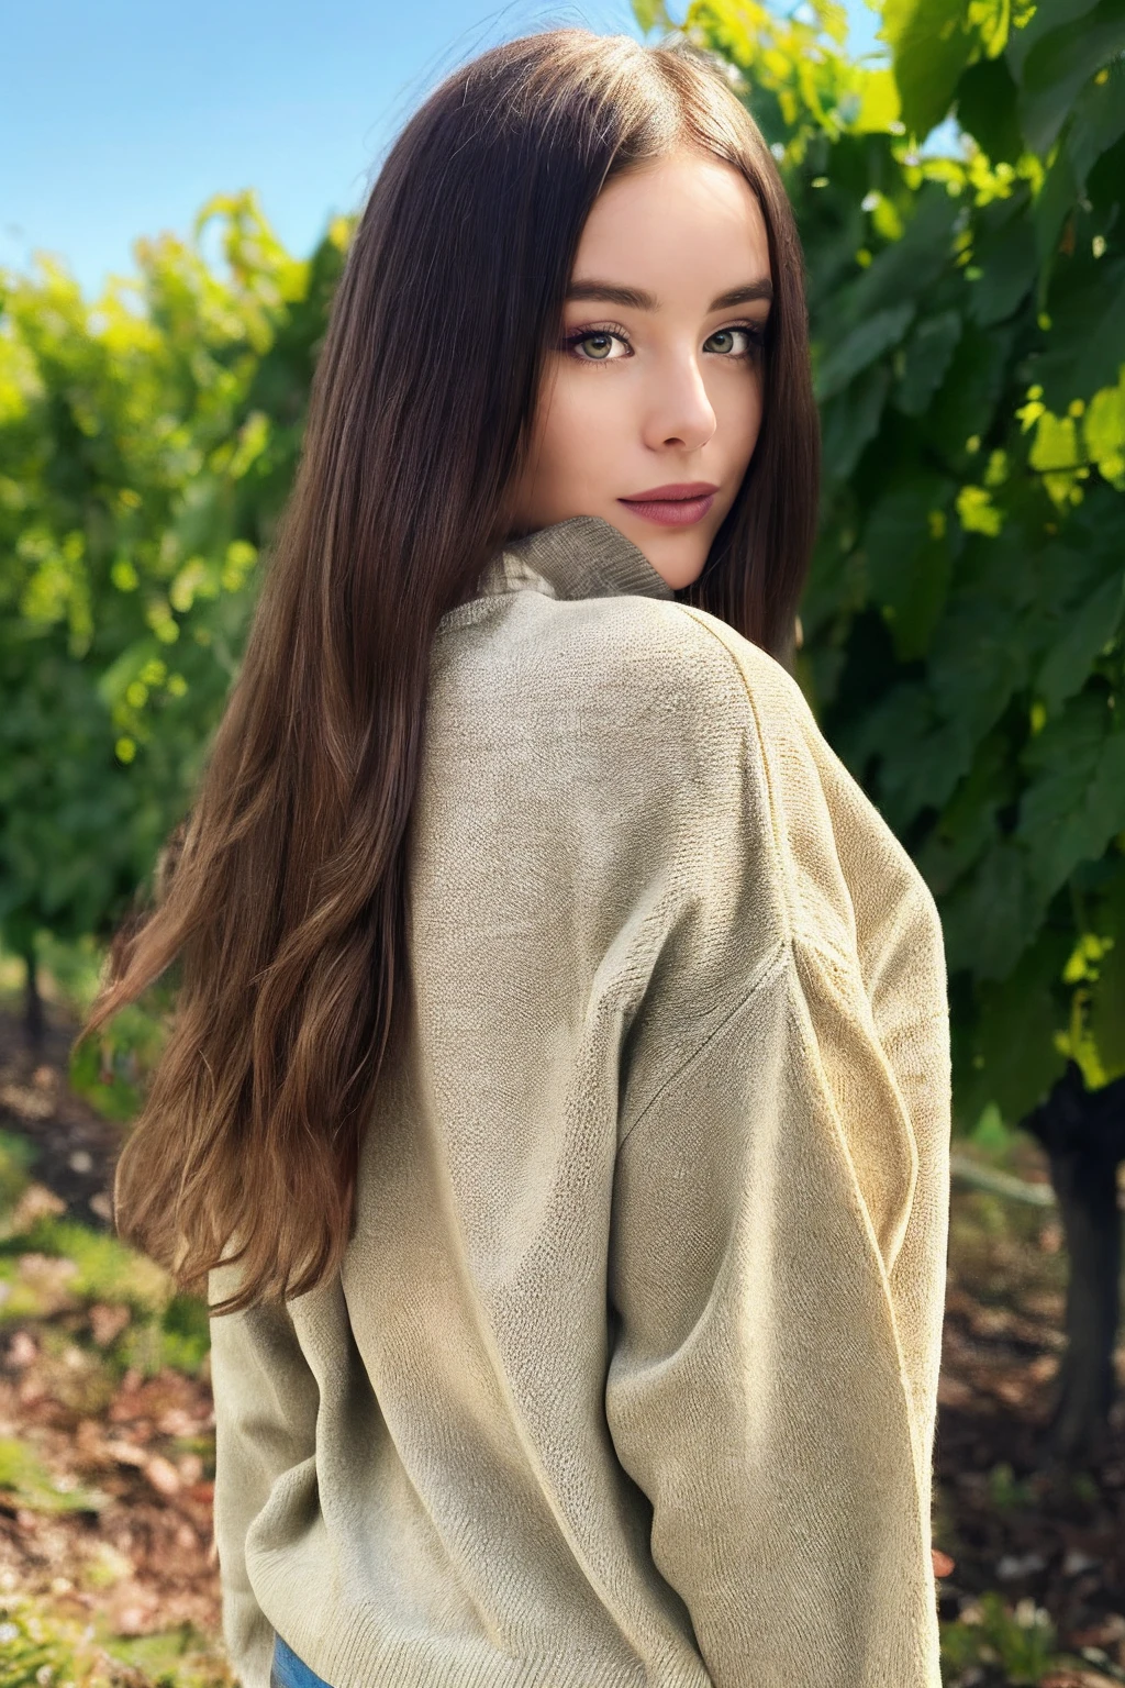
<svg viewBox="0 0 1125 1688">
<path fill-rule="evenodd" d="M 702 56 L 450 76 L 366 204 L 116 1175 L 207 1280 L 246 1688 L 938 1688 L 941 928 L 786 672 L 801 253 Z"/>
</svg>

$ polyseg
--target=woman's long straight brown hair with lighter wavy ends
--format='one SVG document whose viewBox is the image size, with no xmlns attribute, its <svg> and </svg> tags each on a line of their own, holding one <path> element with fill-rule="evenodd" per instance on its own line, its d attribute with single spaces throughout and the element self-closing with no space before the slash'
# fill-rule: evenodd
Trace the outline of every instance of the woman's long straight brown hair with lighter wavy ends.
<svg viewBox="0 0 1125 1688">
<path fill-rule="evenodd" d="M 756 454 L 676 598 L 786 660 L 818 424 L 801 248 L 769 149 L 685 44 L 558 29 L 494 47 L 428 96 L 374 181 L 175 871 L 118 933 L 81 1033 L 179 957 L 115 1224 L 184 1290 L 243 1261 L 213 1312 L 300 1295 L 341 1264 L 363 1126 L 408 1013 L 405 842 L 433 631 L 513 532 L 595 196 L 680 145 L 744 172 L 774 307 Z"/>
</svg>

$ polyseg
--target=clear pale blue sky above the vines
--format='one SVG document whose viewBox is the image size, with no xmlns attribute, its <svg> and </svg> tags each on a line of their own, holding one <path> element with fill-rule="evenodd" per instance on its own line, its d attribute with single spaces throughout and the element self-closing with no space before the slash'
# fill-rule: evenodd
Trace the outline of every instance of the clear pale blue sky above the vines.
<svg viewBox="0 0 1125 1688">
<path fill-rule="evenodd" d="M 848 17 L 850 49 L 875 51 L 864 0 Z M 305 257 L 442 76 L 552 24 L 639 35 L 629 0 L 22 0 L 2 37 L 0 265 L 51 252 L 93 297 L 133 272 L 138 235 L 187 236 L 240 187 Z"/>
</svg>

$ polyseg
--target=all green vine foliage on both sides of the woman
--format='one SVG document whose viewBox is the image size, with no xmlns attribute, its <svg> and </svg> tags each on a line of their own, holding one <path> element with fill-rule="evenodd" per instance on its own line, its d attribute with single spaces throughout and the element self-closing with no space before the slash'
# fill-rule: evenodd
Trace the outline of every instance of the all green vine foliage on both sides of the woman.
<svg viewBox="0 0 1125 1688">
<path fill-rule="evenodd" d="M 638 20 L 675 32 L 663 0 Z M 1125 1072 L 1120 0 L 692 0 L 803 231 L 821 405 L 799 677 L 941 908 L 955 1106 Z M 961 140 L 923 145 L 955 115 Z M 216 197 L 96 304 L 0 273 L 0 932 L 101 940 L 238 672 L 351 235 Z M 160 1013 L 76 1057 L 128 1117 Z M 125 1035 L 128 1031 L 128 1035 Z"/>
</svg>

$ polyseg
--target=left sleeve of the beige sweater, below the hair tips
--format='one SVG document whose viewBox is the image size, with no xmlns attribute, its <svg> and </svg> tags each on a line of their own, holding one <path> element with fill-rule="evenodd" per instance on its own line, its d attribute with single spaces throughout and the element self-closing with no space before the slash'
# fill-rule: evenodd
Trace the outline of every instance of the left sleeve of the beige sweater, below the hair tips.
<svg viewBox="0 0 1125 1688">
<path fill-rule="evenodd" d="M 209 1273 L 211 1305 L 234 1293 L 233 1271 L 223 1264 Z M 275 1479 L 312 1458 L 319 1404 L 285 1307 L 263 1303 L 211 1318 L 211 1389 L 223 1639 L 243 1688 L 268 1688 L 273 1626 L 246 1575 L 246 1531 Z"/>
</svg>

